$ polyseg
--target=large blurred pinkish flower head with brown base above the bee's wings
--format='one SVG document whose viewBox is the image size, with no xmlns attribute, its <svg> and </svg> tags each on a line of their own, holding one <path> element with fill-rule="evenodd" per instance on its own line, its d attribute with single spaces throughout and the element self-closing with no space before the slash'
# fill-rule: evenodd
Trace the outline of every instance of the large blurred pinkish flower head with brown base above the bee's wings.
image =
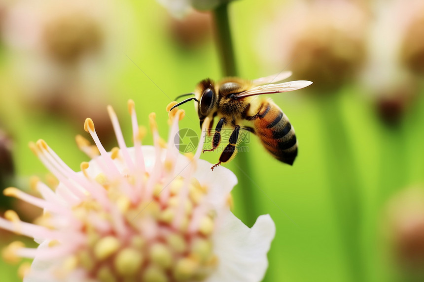
<svg viewBox="0 0 424 282">
<path fill-rule="evenodd" d="M 366 24 L 367 12 L 353 2 L 296 1 L 266 26 L 259 48 L 267 63 L 313 81 L 314 91 L 333 92 L 353 80 L 365 59 Z M 263 44 L 269 38 L 275 43 Z"/>
</svg>

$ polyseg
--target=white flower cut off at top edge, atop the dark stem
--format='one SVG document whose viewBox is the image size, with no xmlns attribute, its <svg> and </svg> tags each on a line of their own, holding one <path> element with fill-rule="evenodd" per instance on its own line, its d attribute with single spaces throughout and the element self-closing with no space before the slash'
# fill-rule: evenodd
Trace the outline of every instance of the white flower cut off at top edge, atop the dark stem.
<svg viewBox="0 0 424 282">
<path fill-rule="evenodd" d="M 185 16 L 192 8 L 200 11 L 212 10 L 218 5 L 231 0 L 158 0 L 177 18 Z"/>
</svg>

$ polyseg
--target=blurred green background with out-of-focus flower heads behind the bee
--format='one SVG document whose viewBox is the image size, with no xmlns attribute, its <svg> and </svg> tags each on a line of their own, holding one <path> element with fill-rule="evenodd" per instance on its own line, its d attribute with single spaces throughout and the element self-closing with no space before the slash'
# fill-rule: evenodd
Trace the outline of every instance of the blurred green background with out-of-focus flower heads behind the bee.
<svg viewBox="0 0 424 282">
<path fill-rule="evenodd" d="M 8 173 L 2 178 L 3 187 L 29 189 L 31 175 L 47 173 L 29 150 L 29 141 L 46 140 L 71 168 L 78 170 L 87 157 L 78 151 L 74 136 L 89 137 L 83 130 L 86 117 L 93 118 L 110 150 L 116 146 L 106 116 L 106 105 L 111 104 L 129 142 L 126 102 L 131 98 L 139 123 L 147 125 L 148 114 L 156 112 L 159 132 L 167 137 L 166 105 L 177 95 L 193 91 L 200 80 L 222 77 L 210 14 L 189 14 L 177 20 L 154 0 L 99 1 L 82 5 L 81 11 L 86 14 L 75 13 L 62 23 L 61 13 L 46 8 L 44 2 L 48 1 L 0 3 L 0 128 L 8 136 L 4 139 L 7 142 L 1 139 L 1 146 L 12 154 L 11 159 L 5 154 L 0 161 L 9 168 L 13 161 L 15 168 L 13 176 Z M 408 28 L 398 31 L 397 38 L 384 21 L 384 15 L 390 15 L 387 6 L 391 5 L 399 18 L 410 19 L 410 11 L 403 15 L 396 9 L 396 1 L 384 1 L 386 5 L 350 1 L 354 12 L 349 5 L 333 9 L 330 3 L 317 8 L 313 1 L 307 1 L 299 8 L 295 2 L 239 0 L 230 4 L 240 77 L 254 79 L 286 69 L 293 70 L 296 79 L 314 81 L 306 90 L 272 95 L 296 129 L 299 156 L 292 167 L 266 153 L 255 136 L 247 145 L 249 152 L 240 153 L 246 154 L 250 163 L 255 203 L 244 200 L 244 187 L 238 185 L 233 190 L 234 213 L 251 226 L 253 221 L 246 210 L 254 205 L 256 217 L 270 214 L 277 226 L 264 281 L 420 279 L 423 228 L 413 228 L 412 235 L 403 236 L 403 229 L 397 228 L 402 224 L 388 212 L 388 201 L 396 201 L 399 192 L 420 187 L 424 181 L 424 93 L 420 77 L 424 43 L 418 42 L 419 36 L 408 35 L 414 32 Z M 328 2 L 342 5 L 346 1 Z M 310 33 L 306 32 L 308 28 L 299 29 L 299 23 L 310 19 L 297 14 L 297 9 L 304 8 L 312 9 L 318 22 L 319 18 L 325 21 L 335 15 L 335 26 L 340 29 L 325 30 L 325 24 L 322 29 L 312 25 L 317 29 L 311 28 Z M 314 8 L 318 10 L 314 12 Z M 29 11 L 36 11 L 35 16 L 26 17 Z M 39 19 L 53 14 L 57 17 L 46 20 L 53 24 L 41 36 L 46 24 Z M 91 16 L 96 19 L 94 24 L 86 20 Z M 291 25 L 289 20 L 288 24 L 281 22 L 290 17 Z M 343 23 L 343 18 L 350 17 L 357 22 Z M 66 34 L 71 35 L 68 38 Z M 391 35 L 397 39 L 390 39 Z M 75 43 L 78 36 L 86 37 L 82 43 Z M 399 43 L 408 36 L 415 41 Z M 68 50 L 67 44 L 74 49 Z M 413 46 L 422 57 L 408 61 L 412 55 L 404 47 L 393 47 L 394 55 L 384 57 L 382 54 L 395 44 Z M 46 45 L 44 50 L 40 47 Z M 287 46 L 292 46 L 291 52 Z M 416 51 L 419 46 L 422 50 Z M 89 55 L 82 54 L 84 48 Z M 186 118 L 180 127 L 200 133 L 194 107 L 186 104 L 181 108 Z M 151 135 L 144 144 L 152 144 Z M 211 163 L 218 157 L 217 153 L 202 155 Z M 239 179 L 247 178 L 239 169 L 238 157 L 224 166 Z M 31 219 L 28 207 L 7 202 L 4 196 L 1 201 L 2 210 L 13 206 L 24 215 L 27 211 Z M 408 214 L 405 217 L 401 222 Z M 423 226 L 424 219 L 414 222 Z M 416 230 L 422 233 L 417 231 L 417 235 Z M 0 240 L 5 245 L 15 237 L 2 232 Z M 408 257 L 409 252 L 402 249 L 405 246 L 418 254 Z M 418 267 L 414 264 L 417 257 Z M 405 266 L 404 261 L 411 260 L 413 266 Z M 2 281 L 19 281 L 16 269 L 1 261 Z"/>
</svg>

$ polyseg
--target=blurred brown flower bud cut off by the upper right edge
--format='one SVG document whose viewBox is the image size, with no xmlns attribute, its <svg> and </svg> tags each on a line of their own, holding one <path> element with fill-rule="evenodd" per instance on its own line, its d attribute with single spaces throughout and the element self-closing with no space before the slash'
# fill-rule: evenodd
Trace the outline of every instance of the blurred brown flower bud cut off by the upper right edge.
<svg viewBox="0 0 424 282">
<path fill-rule="evenodd" d="M 408 3 L 409 5 L 409 3 Z M 401 60 L 416 74 L 424 73 L 424 2 L 409 15 L 401 46 Z"/>
</svg>

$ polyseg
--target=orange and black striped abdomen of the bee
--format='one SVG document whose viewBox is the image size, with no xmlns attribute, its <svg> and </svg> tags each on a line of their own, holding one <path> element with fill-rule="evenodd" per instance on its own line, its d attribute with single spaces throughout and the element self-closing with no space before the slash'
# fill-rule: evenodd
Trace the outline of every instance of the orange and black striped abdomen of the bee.
<svg viewBox="0 0 424 282">
<path fill-rule="evenodd" d="M 271 100 L 264 100 L 255 116 L 248 117 L 264 147 L 278 160 L 292 165 L 297 156 L 294 128 L 283 111 Z"/>
</svg>

